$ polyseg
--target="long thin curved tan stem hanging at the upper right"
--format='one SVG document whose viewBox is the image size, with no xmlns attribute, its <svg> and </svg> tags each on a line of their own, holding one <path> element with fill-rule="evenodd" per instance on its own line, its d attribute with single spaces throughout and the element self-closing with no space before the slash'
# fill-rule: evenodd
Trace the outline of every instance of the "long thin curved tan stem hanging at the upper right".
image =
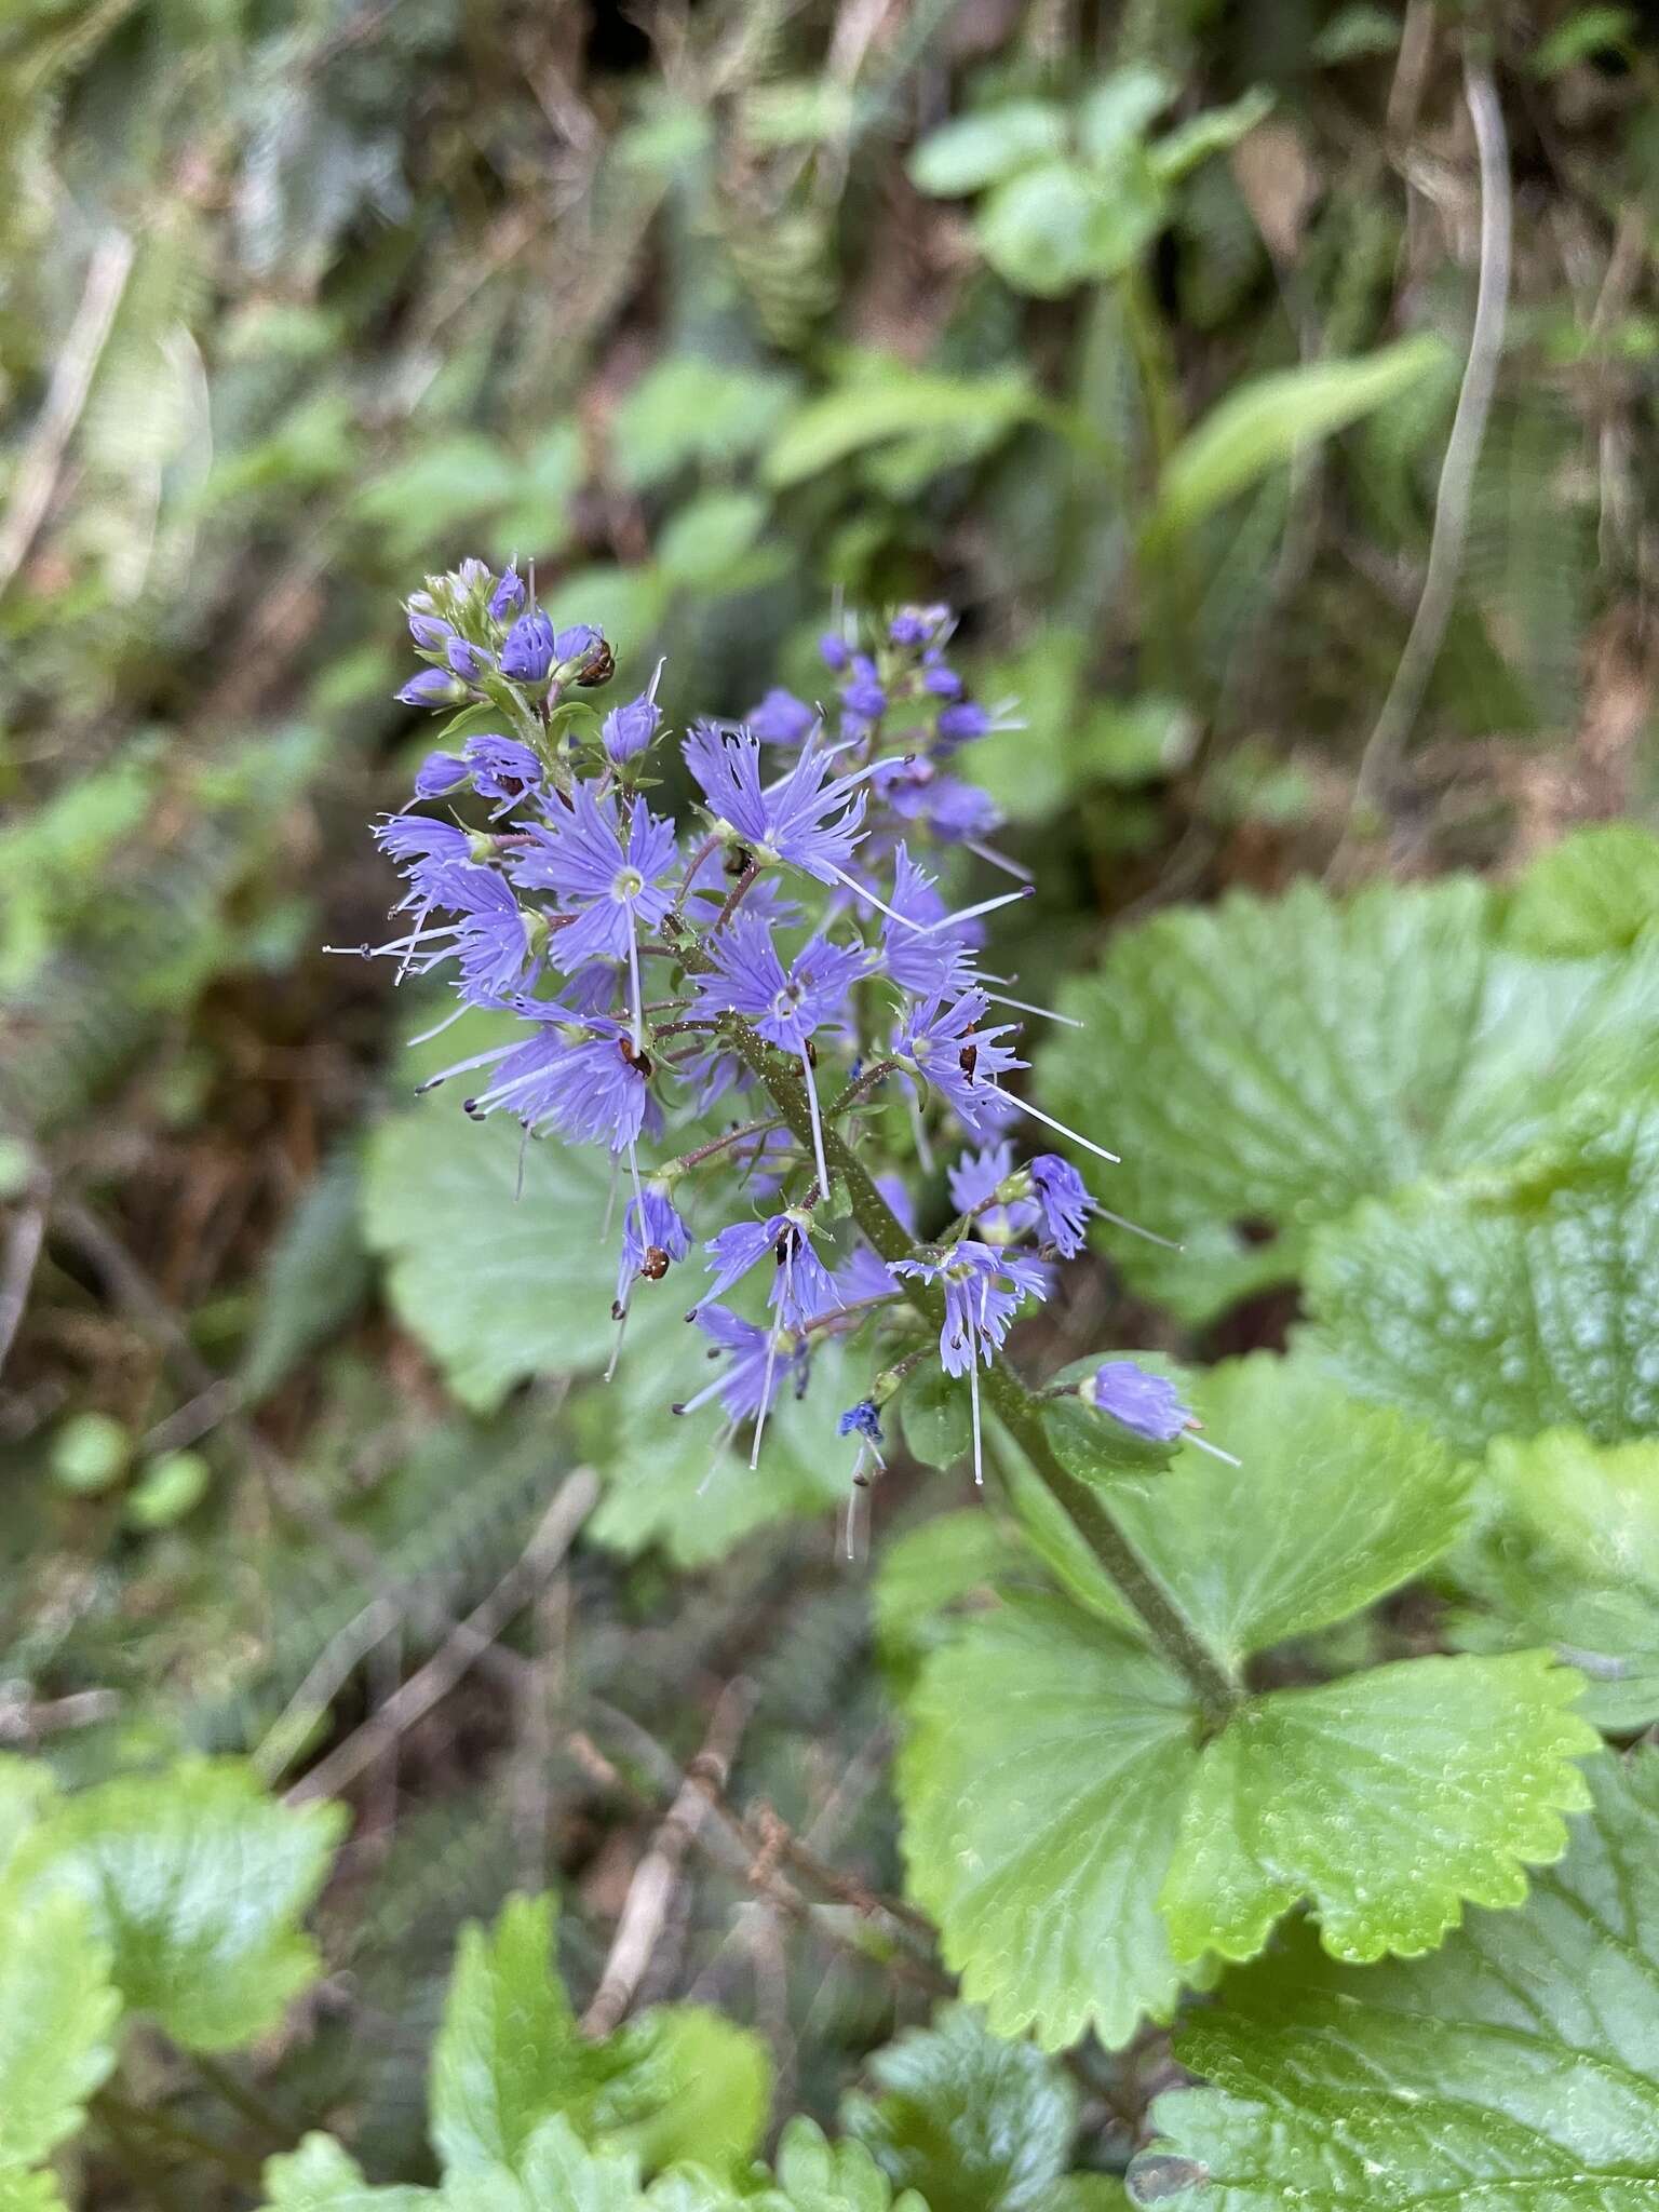
<svg viewBox="0 0 1659 2212">
<path fill-rule="evenodd" d="M 1491 66 L 1473 51 L 1464 53 L 1462 84 L 1469 122 L 1475 128 L 1475 153 L 1480 157 L 1480 283 L 1475 290 L 1475 323 L 1469 334 L 1469 361 L 1464 363 L 1462 387 L 1458 389 L 1458 411 L 1451 418 L 1447 458 L 1440 467 L 1440 491 L 1436 495 L 1422 597 L 1411 619 L 1400 666 L 1394 670 L 1394 684 L 1383 701 L 1383 712 L 1360 754 L 1349 827 L 1358 814 L 1374 810 L 1387 799 L 1405 741 L 1422 708 L 1429 677 L 1440 659 L 1440 646 L 1447 637 L 1447 624 L 1451 622 L 1462 577 L 1469 502 L 1475 489 L 1480 447 L 1486 436 L 1486 416 L 1491 414 L 1493 389 L 1498 385 L 1498 363 L 1504 352 L 1511 250 L 1504 111 L 1498 104 Z"/>
</svg>

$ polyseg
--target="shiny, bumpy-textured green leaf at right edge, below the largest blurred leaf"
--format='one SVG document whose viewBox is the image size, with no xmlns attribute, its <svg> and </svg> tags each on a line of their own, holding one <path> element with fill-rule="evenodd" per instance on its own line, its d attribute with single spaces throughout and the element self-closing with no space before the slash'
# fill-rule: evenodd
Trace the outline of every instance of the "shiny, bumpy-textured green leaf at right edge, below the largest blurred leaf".
<svg viewBox="0 0 1659 2212">
<path fill-rule="evenodd" d="M 1659 1427 L 1659 1113 L 1586 1110 L 1509 1177 L 1360 1208 L 1307 1276 L 1312 1343 L 1360 1396 L 1478 1453 Z"/>
</svg>

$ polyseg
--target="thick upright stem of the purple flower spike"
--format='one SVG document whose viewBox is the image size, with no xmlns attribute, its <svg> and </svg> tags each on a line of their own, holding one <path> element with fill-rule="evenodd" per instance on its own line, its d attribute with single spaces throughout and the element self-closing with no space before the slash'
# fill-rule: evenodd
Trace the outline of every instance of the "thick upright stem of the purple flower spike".
<svg viewBox="0 0 1659 2212">
<path fill-rule="evenodd" d="M 812 1121 L 801 1075 L 783 1053 L 774 1053 L 748 1024 L 732 1022 L 730 1035 L 743 1062 L 772 1093 L 774 1106 L 794 1135 L 801 1144 L 810 1144 Z M 872 1248 L 885 1261 L 909 1259 L 911 1239 L 905 1225 L 891 1206 L 887 1206 L 880 1190 L 876 1190 L 869 1170 L 856 1159 L 838 1128 L 825 1126 L 823 1150 L 830 1172 L 838 1175 L 847 1186 L 854 1221 Z M 945 1296 L 936 1285 L 909 1279 L 905 1292 L 933 1327 L 942 1325 Z M 1239 1686 L 1117 1526 L 1099 1493 L 1055 1458 L 1042 1422 L 1042 1400 L 1002 1360 L 989 1371 L 987 1396 L 1002 1427 L 1020 1451 L 1024 1451 L 1026 1460 L 1031 1460 L 1037 1480 L 1055 1495 L 1102 1568 L 1135 1608 L 1152 1644 L 1186 1677 L 1206 1721 L 1212 1728 L 1221 1728 L 1239 1703 Z"/>
</svg>

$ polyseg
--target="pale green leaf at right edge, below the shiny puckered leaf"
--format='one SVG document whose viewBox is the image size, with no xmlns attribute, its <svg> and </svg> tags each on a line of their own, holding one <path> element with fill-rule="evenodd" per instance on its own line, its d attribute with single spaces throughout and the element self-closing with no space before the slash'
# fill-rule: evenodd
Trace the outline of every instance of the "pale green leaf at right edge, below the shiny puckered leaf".
<svg viewBox="0 0 1659 2212">
<path fill-rule="evenodd" d="M 1484 1520 L 1451 1562 L 1467 1650 L 1548 1644 L 1588 1681 L 1579 1712 L 1635 1734 L 1659 1721 L 1659 1442 L 1593 1444 L 1582 1429 L 1500 1440 Z"/>
</svg>

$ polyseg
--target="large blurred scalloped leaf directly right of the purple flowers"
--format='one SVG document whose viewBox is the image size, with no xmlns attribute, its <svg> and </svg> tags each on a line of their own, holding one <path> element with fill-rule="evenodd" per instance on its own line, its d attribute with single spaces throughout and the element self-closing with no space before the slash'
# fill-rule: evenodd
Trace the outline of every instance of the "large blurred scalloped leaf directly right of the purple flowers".
<svg viewBox="0 0 1659 2212">
<path fill-rule="evenodd" d="M 1515 1159 L 1562 1099 L 1630 1086 L 1659 947 L 1540 960 L 1486 920 L 1467 878 L 1234 894 L 1126 931 L 1064 993 L 1086 1029 L 1042 1048 L 1042 1095 L 1124 1155 L 1110 1206 L 1183 1243 L 1102 1228 L 1141 1287 L 1203 1321 L 1294 1281 L 1358 1199 Z"/>
</svg>

